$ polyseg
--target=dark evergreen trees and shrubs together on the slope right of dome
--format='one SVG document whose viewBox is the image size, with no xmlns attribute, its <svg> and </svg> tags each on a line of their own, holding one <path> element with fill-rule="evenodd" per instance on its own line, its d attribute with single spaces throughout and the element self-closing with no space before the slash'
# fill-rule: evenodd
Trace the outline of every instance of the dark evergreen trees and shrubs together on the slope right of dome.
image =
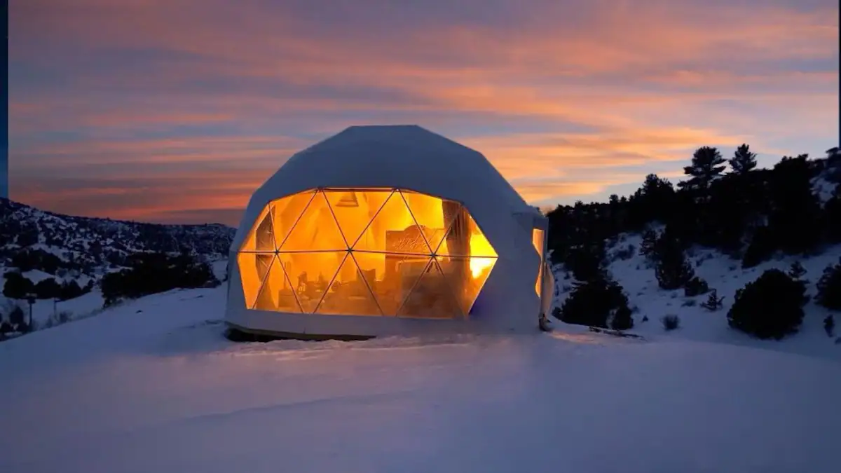
<svg viewBox="0 0 841 473">
<path fill-rule="evenodd" d="M 684 173 L 676 186 L 649 174 L 630 197 L 559 205 L 547 214 L 553 263 L 563 263 L 575 279 L 555 316 L 596 327 L 633 326 L 627 295 L 606 271 L 605 242 L 624 232 L 643 233 L 639 252 L 653 265 L 660 288 L 682 289 L 688 297 L 709 293 L 701 305 L 709 311 L 720 309 L 723 298 L 695 275 L 687 248 L 716 248 L 751 268 L 776 253 L 810 255 L 841 242 L 841 186 L 825 203 L 812 190 L 818 176 L 841 182 L 836 148 L 825 159 L 783 157 L 759 169 L 748 145 L 738 146 L 729 159 L 703 146 Z M 663 231 L 653 231 L 652 224 Z M 746 285 L 727 314 L 730 325 L 764 338 L 796 332 L 807 301 L 802 274 L 802 267 L 790 274 L 771 270 Z M 841 263 L 827 268 L 817 289 L 819 304 L 841 310 Z M 831 318 L 824 322 L 828 333 Z"/>
</svg>

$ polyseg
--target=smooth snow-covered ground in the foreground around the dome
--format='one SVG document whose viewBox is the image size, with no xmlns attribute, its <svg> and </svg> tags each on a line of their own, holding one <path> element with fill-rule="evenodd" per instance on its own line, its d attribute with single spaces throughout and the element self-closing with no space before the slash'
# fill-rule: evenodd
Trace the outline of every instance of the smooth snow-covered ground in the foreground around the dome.
<svg viewBox="0 0 841 473">
<path fill-rule="evenodd" d="M 561 323 L 235 344 L 224 288 L 0 343 L 0 471 L 838 470 L 838 361 Z"/>
</svg>

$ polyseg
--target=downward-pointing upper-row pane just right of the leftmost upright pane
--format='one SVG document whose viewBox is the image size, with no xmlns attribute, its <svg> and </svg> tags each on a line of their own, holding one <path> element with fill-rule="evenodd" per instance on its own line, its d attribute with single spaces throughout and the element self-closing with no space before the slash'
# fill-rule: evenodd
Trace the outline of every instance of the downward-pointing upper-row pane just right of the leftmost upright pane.
<svg viewBox="0 0 841 473">
<path fill-rule="evenodd" d="M 365 230 L 374 215 L 377 215 L 386 199 L 389 199 L 391 192 L 391 189 L 329 189 L 324 191 L 348 246 L 352 246 L 359 239 L 362 231 Z"/>
</svg>

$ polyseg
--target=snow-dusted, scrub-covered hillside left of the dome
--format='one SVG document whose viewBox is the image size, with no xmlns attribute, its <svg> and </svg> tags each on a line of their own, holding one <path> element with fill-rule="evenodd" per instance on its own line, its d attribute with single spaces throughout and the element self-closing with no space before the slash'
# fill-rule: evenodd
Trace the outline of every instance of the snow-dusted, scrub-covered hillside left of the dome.
<svg viewBox="0 0 841 473">
<path fill-rule="evenodd" d="M 33 319 L 36 327 L 49 327 L 98 312 L 103 306 L 99 279 L 123 268 L 130 255 L 186 251 L 217 262 L 219 268 L 234 233 L 221 225 L 165 226 L 57 215 L 0 199 L 0 290 L 6 292 L 11 272 L 37 285 L 33 292 L 40 299 L 33 306 Z M 224 270 L 217 276 L 221 279 Z M 53 290 L 39 285 L 52 281 Z M 66 296 L 56 302 L 48 293 Z M 28 323 L 24 301 L 2 294 L 0 321 L 14 306 L 24 307 Z"/>
</svg>

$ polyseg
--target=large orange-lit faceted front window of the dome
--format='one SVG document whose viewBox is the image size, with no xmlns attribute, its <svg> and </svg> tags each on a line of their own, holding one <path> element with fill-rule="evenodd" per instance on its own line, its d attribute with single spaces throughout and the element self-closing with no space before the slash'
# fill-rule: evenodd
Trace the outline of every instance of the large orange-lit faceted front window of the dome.
<svg viewBox="0 0 841 473">
<path fill-rule="evenodd" d="M 318 189 L 269 203 L 237 263 L 250 309 L 449 319 L 469 314 L 497 256 L 458 202 Z"/>
</svg>

